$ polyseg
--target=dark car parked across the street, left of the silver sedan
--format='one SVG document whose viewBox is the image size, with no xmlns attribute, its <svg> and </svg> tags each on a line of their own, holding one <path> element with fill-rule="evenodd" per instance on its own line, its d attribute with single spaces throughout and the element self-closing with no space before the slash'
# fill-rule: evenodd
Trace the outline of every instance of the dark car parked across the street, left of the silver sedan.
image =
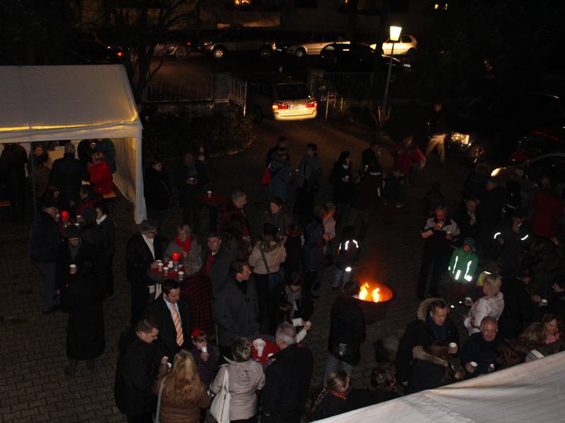
<svg viewBox="0 0 565 423">
<path fill-rule="evenodd" d="M 215 59 L 223 59 L 228 52 L 233 51 L 257 51 L 261 57 L 268 58 L 275 47 L 273 35 L 254 27 L 226 30 L 218 37 L 202 40 L 198 44 L 198 49 L 212 54 Z"/>
</svg>

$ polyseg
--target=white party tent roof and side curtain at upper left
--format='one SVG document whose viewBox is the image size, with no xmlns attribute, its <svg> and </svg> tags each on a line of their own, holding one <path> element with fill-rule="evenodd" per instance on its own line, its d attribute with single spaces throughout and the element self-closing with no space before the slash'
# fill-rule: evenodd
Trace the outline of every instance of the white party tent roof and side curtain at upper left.
<svg viewBox="0 0 565 423">
<path fill-rule="evenodd" d="M 121 65 L 0 66 L 0 143 L 111 138 L 114 183 L 145 219 L 141 132 Z"/>
</svg>

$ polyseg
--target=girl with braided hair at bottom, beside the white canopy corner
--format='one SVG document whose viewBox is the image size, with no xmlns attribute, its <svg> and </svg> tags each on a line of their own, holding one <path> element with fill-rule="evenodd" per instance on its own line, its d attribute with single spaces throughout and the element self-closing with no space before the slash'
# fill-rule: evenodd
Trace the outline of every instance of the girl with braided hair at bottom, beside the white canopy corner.
<svg viewBox="0 0 565 423">
<path fill-rule="evenodd" d="M 312 420 L 326 419 L 345 412 L 350 379 L 345 370 L 331 372 L 311 408 Z"/>
</svg>

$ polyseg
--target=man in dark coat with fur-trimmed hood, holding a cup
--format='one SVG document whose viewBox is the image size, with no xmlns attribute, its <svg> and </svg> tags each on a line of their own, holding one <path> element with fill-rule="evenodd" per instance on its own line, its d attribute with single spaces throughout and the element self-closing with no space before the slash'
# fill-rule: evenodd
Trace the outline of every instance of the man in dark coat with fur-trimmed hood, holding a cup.
<svg viewBox="0 0 565 423">
<path fill-rule="evenodd" d="M 447 343 L 459 343 L 457 326 L 448 317 L 449 307 L 441 298 L 428 298 L 420 303 L 417 319 L 406 327 L 396 352 L 396 380 L 408 381 L 408 374 L 413 363 L 412 350 L 415 346 L 426 348 L 432 341 L 439 339 Z M 450 354 L 457 354 L 458 348 L 449 348 Z"/>
</svg>

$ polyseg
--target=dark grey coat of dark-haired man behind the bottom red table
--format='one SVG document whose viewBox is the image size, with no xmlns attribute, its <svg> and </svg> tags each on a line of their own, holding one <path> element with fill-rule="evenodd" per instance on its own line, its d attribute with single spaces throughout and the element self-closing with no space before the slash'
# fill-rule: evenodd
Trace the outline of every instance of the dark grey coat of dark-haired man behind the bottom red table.
<svg viewBox="0 0 565 423">
<path fill-rule="evenodd" d="M 255 333 L 258 312 L 257 294 L 252 281 L 244 281 L 246 293 L 239 288 L 234 278 L 213 296 L 212 311 L 218 326 L 218 343 L 230 346 L 234 338 L 251 336 Z"/>
</svg>

